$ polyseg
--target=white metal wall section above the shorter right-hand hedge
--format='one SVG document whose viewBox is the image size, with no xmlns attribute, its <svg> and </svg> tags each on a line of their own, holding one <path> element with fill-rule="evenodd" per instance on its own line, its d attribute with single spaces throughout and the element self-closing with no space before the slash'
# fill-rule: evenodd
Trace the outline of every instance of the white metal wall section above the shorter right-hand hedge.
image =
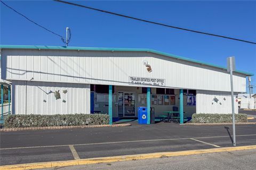
<svg viewBox="0 0 256 170">
<path fill-rule="evenodd" d="M 237 94 L 234 95 L 235 113 L 238 113 Z M 218 103 L 213 100 L 215 97 Z M 230 92 L 197 90 L 196 113 L 232 113 Z"/>
</svg>

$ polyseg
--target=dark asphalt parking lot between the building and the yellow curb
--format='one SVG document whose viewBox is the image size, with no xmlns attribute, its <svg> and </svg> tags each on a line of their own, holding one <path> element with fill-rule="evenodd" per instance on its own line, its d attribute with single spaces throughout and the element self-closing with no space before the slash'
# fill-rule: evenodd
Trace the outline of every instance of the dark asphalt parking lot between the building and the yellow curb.
<svg viewBox="0 0 256 170">
<path fill-rule="evenodd" d="M 232 146 L 231 125 L 157 123 L 118 128 L 1 133 L 1 165 Z M 256 145 L 256 125 L 237 125 L 237 146 Z"/>
</svg>

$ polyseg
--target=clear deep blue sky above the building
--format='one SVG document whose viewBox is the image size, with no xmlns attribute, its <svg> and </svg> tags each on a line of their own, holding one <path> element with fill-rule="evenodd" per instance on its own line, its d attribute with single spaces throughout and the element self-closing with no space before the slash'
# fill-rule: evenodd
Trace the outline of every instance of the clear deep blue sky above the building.
<svg viewBox="0 0 256 170">
<path fill-rule="evenodd" d="M 28 18 L 65 35 L 69 46 L 150 48 L 256 74 L 256 45 L 199 35 L 53 1 L 4 1 Z M 256 41 L 255 1 L 73 1 L 137 18 Z M 2 45 L 63 46 L 61 39 L 1 4 Z M 256 77 L 252 77 L 256 86 Z M 253 90 L 256 93 L 256 87 Z"/>
</svg>

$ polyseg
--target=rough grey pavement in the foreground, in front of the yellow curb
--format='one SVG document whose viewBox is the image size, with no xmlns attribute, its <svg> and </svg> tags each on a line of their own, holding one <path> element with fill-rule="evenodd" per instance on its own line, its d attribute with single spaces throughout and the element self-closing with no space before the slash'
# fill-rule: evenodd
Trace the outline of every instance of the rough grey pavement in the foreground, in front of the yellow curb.
<svg viewBox="0 0 256 170">
<path fill-rule="evenodd" d="M 87 170 L 93 170 L 93 169 L 98 169 L 98 170 L 247 169 L 247 170 L 254 170 L 256 167 L 255 160 L 256 160 L 256 149 L 253 149 L 253 150 L 240 150 L 240 151 L 231 151 L 231 152 L 215 152 L 210 154 L 199 154 L 199 155 L 189 155 L 189 156 L 129 160 L 126 162 L 67 166 L 67 167 L 61 167 L 60 169 L 61 170 L 69 170 L 69 169 L 70 170 L 76 170 L 76 169 L 87 169 Z M 55 169 L 55 168 L 47 168 L 47 170 L 50 170 L 50 169 Z"/>
</svg>

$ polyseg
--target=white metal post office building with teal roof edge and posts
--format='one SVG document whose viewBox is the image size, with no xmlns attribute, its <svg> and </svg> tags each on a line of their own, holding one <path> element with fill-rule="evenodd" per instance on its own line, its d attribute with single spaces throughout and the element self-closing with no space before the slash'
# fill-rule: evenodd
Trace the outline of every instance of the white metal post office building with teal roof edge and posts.
<svg viewBox="0 0 256 170">
<path fill-rule="evenodd" d="M 187 117 L 231 113 L 225 67 L 151 49 L 0 47 L 1 79 L 12 83 L 12 114 L 137 117 L 139 106 L 154 107 L 156 116 L 177 108 Z M 235 95 L 245 92 L 251 75 L 234 72 Z"/>
</svg>

